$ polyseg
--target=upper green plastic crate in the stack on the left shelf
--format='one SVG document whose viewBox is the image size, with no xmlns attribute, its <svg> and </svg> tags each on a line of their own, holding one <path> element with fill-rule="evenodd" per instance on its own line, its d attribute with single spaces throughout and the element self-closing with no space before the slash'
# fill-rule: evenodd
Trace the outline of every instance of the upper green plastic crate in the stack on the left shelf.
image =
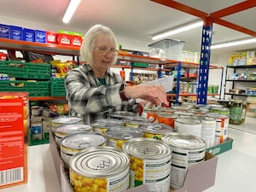
<svg viewBox="0 0 256 192">
<path fill-rule="evenodd" d="M 51 67 L 49 63 L 0 61 L 0 72 L 14 78 L 49 79 Z"/>
</svg>

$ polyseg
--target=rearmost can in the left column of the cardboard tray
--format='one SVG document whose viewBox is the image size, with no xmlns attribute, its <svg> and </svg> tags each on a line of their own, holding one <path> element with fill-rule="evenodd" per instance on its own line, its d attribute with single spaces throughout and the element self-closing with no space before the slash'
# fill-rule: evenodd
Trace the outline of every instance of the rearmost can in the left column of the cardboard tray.
<svg viewBox="0 0 256 192">
<path fill-rule="evenodd" d="M 81 123 L 82 118 L 74 116 L 58 116 L 51 120 L 51 131 L 55 131 L 55 127 L 62 124 Z"/>
</svg>

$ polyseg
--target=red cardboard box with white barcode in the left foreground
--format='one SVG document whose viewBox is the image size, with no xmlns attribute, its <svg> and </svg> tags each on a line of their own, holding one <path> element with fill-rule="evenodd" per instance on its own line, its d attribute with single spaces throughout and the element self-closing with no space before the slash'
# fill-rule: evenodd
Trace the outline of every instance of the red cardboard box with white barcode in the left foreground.
<svg viewBox="0 0 256 192">
<path fill-rule="evenodd" d="M 0 189 L 27 183 L 28 94 L 0 92 Z"/>
</svg>

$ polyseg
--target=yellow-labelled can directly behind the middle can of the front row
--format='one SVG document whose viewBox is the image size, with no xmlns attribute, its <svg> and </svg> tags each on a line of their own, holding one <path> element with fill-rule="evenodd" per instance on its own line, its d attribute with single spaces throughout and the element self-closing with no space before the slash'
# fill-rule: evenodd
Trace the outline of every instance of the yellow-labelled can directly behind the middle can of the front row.
<svg viewBox="0 0 256 192">
<path fill-rule="evenodd" d="M 141 125 L 139 128 L 144 132 L 143 137 L 153 139 L 160 139 L 163 134 L 173 132 L 172 126 L 161 123 Z"/>
</svg>

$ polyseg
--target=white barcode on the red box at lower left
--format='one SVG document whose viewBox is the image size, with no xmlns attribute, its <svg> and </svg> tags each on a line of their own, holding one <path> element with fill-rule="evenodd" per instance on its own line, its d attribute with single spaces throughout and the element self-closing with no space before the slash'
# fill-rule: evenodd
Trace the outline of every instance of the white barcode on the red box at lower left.
<svg viewBox="0 0 256 192">
<path fill-rule="evenodd" d="M 0 186 L 24 180 L 23 167 L 0 171 Z"/>
</svg>

